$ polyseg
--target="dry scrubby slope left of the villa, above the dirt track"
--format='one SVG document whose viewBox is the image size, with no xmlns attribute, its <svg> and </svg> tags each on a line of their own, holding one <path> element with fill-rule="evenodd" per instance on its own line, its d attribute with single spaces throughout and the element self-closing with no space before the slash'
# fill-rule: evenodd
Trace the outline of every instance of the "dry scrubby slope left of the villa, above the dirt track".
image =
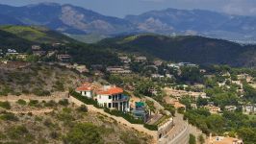
<svg viewBox="0 0 256 144">
<path fill-rule="evenodd" d="M 16 65 L 13 63 L 13 65 Z M 58 65 L 32 63 L 23 68 L 0 65 L 0 95 L 35 94 L 48 96 L 56 91 L 68 91 L 83 76 Z"/>
</svg>

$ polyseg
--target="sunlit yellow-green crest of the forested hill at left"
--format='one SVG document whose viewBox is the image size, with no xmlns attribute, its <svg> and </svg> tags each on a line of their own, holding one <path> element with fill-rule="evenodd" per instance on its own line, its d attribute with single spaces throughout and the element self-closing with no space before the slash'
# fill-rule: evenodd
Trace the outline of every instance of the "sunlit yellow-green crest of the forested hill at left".
<svg viewBox="0 0 256 144">
<path fill-rule="evenodd" d="M 36 26 L 1 26 L 0 30 L 14 36 L 38 43 L 74 42 L 75 40 L 44 27 Z"/>
</svg>

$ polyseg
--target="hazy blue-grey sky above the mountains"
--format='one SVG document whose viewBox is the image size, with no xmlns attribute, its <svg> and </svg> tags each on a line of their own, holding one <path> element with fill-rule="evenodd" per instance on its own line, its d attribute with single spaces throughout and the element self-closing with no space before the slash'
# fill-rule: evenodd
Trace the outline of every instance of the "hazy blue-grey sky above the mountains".
<svg viewBox="0 0 256 144">
<path fill-rule="evenodd" d="M 72 4 L 117 17 L 167 8 L 202 9 L 256 16 L 256 0 L 0 0 L 0 4 L 12 6 L 24 6 L 41 2 Z"/>
</svg>

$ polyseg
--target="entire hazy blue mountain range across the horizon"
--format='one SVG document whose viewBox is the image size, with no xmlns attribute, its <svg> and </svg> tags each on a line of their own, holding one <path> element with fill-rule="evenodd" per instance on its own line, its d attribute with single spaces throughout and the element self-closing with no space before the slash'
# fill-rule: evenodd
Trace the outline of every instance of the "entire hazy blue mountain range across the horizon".
<svg viewBox="0 0 256 144">
<path fill-rule="evenodd" d="M 24 7 L 0 5 L 0 16 L 1 25 L 42 25 L 71 35 L 156 33 L 256 41 L 256 16 L 202 10 L 166 9 L 117 18 L 68 4 L 40 3 Z"/>
</svg>

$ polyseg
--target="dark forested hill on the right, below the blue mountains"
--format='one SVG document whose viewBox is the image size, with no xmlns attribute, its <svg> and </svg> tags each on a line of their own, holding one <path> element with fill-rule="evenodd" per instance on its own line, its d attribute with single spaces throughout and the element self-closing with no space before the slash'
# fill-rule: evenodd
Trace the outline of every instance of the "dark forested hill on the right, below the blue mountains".
<svg viewBox="0 0 256 144">
<path fill-rule="evenodd" d="M 256 46 L 202 36 L 119 36 L 99 42 L 119 52 L 138 53 L 162 60 L 198 64 L 256 66 Z"/>
</svg>

